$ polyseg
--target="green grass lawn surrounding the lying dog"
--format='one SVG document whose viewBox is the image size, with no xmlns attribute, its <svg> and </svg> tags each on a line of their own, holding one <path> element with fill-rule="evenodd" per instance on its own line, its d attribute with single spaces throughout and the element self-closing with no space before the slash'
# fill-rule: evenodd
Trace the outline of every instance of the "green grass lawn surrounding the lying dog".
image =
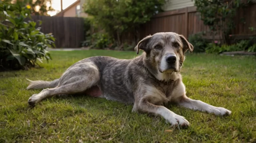
<svg viewBox="0 0 256 143">
<path fill-rule="evenodd" d="M 169 105 L 191 124 L 173 129 L 162 117 L 132 113 L 132 106 L 71 96 L 27 101 L 41 90 L 25 90 L 30 80 L 54 80 L 73 63 L 96 55 L 133 58 L 121 51 L 51 51 L 43 68 L 0 73 L 0 142 L 255 142 L 256 58 L 188 54 L 181 70 L 187 96 L 232 111 L 230 116 Z M 166 131 L 168 130 L 168 131 Z"/>
</svg>

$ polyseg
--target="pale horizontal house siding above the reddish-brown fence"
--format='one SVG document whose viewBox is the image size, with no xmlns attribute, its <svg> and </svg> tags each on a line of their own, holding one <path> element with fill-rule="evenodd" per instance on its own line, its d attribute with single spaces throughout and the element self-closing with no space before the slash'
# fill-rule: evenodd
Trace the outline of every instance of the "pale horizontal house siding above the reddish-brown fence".
<svg viewBox="0 0 256 143">
<path fill-rule="evenodd" d="M 192 0 L 168 0 L 163 6 L 163 10 L 170 11 L 191 6 L 194 6 L 194 1 Z"/>
</svg>

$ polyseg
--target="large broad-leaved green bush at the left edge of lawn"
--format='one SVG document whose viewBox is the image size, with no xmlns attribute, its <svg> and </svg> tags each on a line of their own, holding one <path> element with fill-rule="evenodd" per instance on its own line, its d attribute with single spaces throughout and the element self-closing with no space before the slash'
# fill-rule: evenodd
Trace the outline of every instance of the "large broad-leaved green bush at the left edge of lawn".
<svg viewBox="0 0 256 143">
<path fill-rule="evenodd" d="M 24 69 L 34 67 L 37 60 L 42 62 L 46 59 L 48 62 L 51 59 L 46 48 L 55 47 L 55 38 L 40 32 L 36 22 L 26 22 L 26 19 L 31 18 L 29 9 L 1 2 L 0 17 L 1 67 Z"/>
</svg>

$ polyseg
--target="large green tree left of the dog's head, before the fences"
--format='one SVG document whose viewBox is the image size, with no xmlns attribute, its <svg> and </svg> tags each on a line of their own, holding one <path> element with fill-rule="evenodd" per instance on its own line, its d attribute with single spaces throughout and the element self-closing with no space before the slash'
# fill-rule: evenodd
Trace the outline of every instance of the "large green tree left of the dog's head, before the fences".
<svg viewBox="0 0 256 143">
<path fill-rule="evenodd" d="M 120 46 L 127 32 L 133 33 L 137 42 L 139 26 L 161 11 L 164 3 L 165 0 L 87 0 L 84 9 L 92 16 L 94 26 L 104 29 Z"/>
</svg>

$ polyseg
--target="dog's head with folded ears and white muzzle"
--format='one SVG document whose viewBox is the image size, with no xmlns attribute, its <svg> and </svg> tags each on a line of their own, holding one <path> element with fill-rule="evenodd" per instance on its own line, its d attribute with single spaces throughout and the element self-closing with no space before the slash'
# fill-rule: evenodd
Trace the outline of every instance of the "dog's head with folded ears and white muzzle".
<svg viewBox="0 0 256 143">
<path fill-rule="evenodd" d="M 176 33 L 156 33 L 142 39 L 135 47 L 137 54 L 139 50 L 145 51 L 147 63 L 156 67 L 160 73 L 179 72 L 184 53 L 193 51 L 193 45 L 186 38 Z"/>
</svg>

